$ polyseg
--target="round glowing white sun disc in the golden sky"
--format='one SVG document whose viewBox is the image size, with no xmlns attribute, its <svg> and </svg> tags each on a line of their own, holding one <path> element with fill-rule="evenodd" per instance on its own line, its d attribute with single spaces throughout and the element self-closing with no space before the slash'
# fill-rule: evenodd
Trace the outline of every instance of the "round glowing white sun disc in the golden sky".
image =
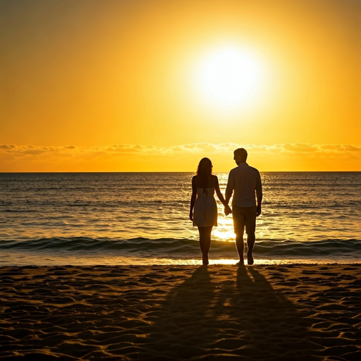
<svg viewBox="0 0 361 361">
<path fill-rule="evenodd" d="M 197 89 L 201 96 L 233 109 L 255 98 L 261 85 L 261 67 L 250 54 L 235 46 L 214 49 L 197 66 Z"/>
</svg>

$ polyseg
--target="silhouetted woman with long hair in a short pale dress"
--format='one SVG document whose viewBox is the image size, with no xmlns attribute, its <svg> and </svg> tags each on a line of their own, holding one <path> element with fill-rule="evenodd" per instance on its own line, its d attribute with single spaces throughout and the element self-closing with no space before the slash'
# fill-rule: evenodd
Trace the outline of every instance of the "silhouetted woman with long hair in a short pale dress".
<svg viewBox="0 0 361 361">
<path fill-rule="evenodd" d="M 219 200 L 231 213 L 219 190 L 217 176 L 212 174 L 212 161 L 208 158 L 200 160 L 197 175 L 192 178 L 192 197 L 190 198 L 189 218 L 200 232 L 200 249 L 203 264 L 209 264 L 208 252 L 211 247 L 211 233 L 213 226 L 217 225 L 217 205 L 214 199 L 214 190 Z"/>
</svg>

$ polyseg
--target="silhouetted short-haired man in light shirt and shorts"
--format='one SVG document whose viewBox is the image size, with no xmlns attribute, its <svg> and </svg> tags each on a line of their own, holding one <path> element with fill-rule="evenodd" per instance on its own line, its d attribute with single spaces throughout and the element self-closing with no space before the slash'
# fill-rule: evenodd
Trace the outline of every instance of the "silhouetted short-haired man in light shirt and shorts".
<svg viewBox="0 0 361 361">
<path fill-rule="evenodd" d="M 226 187 L 226 204 L 232 197 L 232 215 L 235 232 L 235 245 L 240 257 L 239 264 L 244 263 L 244 231 L 247 233 L 247 264 L 253 264 L 252 250 L 255 246 L 256 217 L 261 214 L 262 182 L 259 171 L 246 163 L 247 151 L 235 149 L 234 158 L 238 165 L 229 172 Z M 257 203 L 256 203 L 257 197 Z M 224 212 L 229 213 L 225 207 Z"/>
</svg>

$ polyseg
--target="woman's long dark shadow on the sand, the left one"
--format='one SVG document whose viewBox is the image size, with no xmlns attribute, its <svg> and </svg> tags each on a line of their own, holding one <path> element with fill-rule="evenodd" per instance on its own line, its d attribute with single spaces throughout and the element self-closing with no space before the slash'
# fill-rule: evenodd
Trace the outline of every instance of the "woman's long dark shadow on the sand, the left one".
<svg viewBox="0 0 361 361">
<path fill-rule="evenodd" d="M 212 339 L 209 325 L 216 321 L 209 312 L 216 285 L 207 267 L 196 269 L 189 279 L 173 288 L 161 305 L 159 317 L 147 340 L 147 355 L 140 360 L 191 360 L 202 357 L 204 344 Z"/>
</svg>

